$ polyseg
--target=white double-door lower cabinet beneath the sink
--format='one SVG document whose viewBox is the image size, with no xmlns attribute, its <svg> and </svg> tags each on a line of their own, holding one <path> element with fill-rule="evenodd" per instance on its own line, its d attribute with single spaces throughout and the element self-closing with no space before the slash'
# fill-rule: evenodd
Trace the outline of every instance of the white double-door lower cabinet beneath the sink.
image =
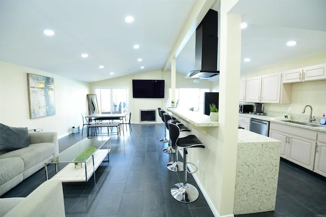
<svg viewBox="0 0 326 217">
<path fill-rule="evenodd" d="M 269 137 L 281 141 L 281 157 L 313 170 L 317 139 L 315 131 L 274 122 L 270 122 L 269 129 Z"/>
</svg>

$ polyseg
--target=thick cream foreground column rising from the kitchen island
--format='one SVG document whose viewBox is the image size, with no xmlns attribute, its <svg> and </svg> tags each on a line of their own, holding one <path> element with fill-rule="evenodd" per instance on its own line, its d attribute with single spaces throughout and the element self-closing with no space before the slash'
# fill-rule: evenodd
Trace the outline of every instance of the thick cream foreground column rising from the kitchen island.
<svg viewBox="0 0 326 217">
<path fill-rule="evenodd" d="M 237 156 L 238 99 L 241 57 L 241 15 L 228 14 L 231 1 L 221 1 L 220 101 L 216 170 L 220 216 L 233 213 Z M 233 2 L 234 5 L 235 2 Z M 232 5 L 232 6 L 233 6 Z"/>
</svg>

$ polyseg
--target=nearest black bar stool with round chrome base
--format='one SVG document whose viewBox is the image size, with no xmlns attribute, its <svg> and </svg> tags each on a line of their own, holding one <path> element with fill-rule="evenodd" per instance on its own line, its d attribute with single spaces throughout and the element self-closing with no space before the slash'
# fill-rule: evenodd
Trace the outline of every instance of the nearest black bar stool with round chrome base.
<svg viewBox="0 0 326 217">
<path fill-rule="evenodd" d="M 170 139 L 176 141 L 175 145 L 179 148 L 183 148 L 183 182 L 176 183 L 171 188 L 171 195 L 177 201 L 182 203 L 191 203 L 197 200 L 199 197 L 199 192 L 196 187 L 192 184 L 187 183 L 187 172 L 195 173 L 197 171 L 197 166 L 193 163 L 187 162 L 187 148 L 205 148 L 201 141 L 195 135 L 188 135 L 186 137 L 179 138 L 180 129 L 171 120 L 168 121 L 168 126 L 170 130 Z M 192 164 L 196 167 L 194 172 L 190 172 L 187 169 L 187 164 Z"/>
</svg>

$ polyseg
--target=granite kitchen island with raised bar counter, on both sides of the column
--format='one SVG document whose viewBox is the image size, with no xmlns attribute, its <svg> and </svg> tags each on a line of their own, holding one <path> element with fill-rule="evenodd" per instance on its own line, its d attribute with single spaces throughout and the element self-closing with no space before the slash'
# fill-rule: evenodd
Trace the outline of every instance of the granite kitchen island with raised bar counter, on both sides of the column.
<svg viewBox="0 0 326 217">
<path fill-rule="evenodd" d="M 208 115 L 199 112 L 167 110 L 205 145 L 205 149 L 189 150 L 188 161 L 195 164 L 200 162 L 200 168 L 193 175 L 214 212 L 219 206 L 216 194 L 222 186 L 221 171 L 217 168 L 223 155 L 223 148 L 218 143 L 220 123 L 210 121 Z M 234 191 L 226 190 L 234 192 L 233 214 L 275 210 L 281 142 L 241 129 L 237 137 L 238 143 L 234 144 L 237 146 Z"/>
</svg>

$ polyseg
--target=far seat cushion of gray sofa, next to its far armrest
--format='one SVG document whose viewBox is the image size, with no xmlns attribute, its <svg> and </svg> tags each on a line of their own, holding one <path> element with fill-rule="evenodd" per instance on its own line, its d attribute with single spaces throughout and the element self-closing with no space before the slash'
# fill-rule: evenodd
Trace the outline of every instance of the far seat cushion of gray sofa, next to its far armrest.
<svg viewBox="0 0 326 217">
<path fill-rule="evenodd" d="M 37 144 L 31 144 L 28 147 L 9 151 L 7 153 L 1 154 L 0 159 L 19 157 L 24 162 L 24 169 L 26 170 L 40 161 L 53 156 L 55 150 L 55 145 L 50 142 L 43 142 Z M 44 162 L 45 163 L 45 162 Z"/>
</svg>

